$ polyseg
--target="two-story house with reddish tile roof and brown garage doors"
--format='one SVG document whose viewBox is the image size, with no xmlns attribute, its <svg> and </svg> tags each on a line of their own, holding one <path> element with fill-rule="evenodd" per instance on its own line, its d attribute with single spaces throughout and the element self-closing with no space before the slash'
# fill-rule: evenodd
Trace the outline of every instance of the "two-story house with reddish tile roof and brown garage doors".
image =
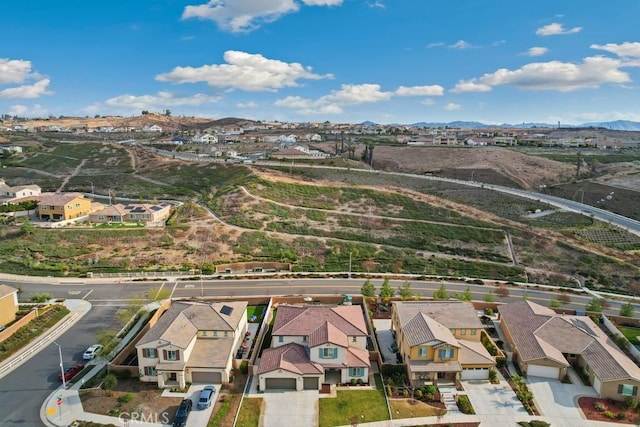
<svg viewBox="0 0 640 427">
<path fill-rule="evenodd" d="M 271 348 L 260 357 L 260 390 L 319 390 L 323 383 L 369 382 L 367 326 L 356 305 L 277 309 Z"/>
</svg>

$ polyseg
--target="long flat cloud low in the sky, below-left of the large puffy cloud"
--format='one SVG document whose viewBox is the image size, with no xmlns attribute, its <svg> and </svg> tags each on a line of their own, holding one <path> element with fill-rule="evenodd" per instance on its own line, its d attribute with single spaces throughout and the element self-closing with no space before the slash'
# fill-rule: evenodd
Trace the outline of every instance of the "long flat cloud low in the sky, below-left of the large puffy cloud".
<svg viewBox="0 0 640 427">
<path fill-rule="evenodd" d="M 102 103 L 85 108 L 86 112 L 99 113 L 104 110 L 134 111 L 163 110 L 167 107 L 193 107 L 213 104 L 222 99 L 219 96 L 198 93 L 189 96 L 177 96 L 171 92 L 158 92 L 157 95 L 119 95 Z"/>
</svg>

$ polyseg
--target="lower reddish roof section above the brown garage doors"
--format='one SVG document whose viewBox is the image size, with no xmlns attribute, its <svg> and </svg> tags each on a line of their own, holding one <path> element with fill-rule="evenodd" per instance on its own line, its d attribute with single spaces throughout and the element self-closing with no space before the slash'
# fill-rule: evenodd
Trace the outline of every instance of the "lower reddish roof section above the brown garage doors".
<svg viewBox="0 0 640 427">
<path fill-rule="evenodd" d="M 290 343 L 267 348 L 262 352 L 256 375 L 283 369 L 294 374 L 322 374 L 324 368 L 309 359 L 307 350 L 300 344 Z"/>
</svg>

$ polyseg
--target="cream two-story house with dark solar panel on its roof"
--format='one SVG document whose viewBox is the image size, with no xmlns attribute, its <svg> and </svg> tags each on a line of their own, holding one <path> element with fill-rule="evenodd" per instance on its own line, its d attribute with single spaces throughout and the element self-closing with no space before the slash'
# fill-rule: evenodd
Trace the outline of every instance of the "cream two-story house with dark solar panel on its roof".
<svg viewBox="0 0 640 427">
<path fill-rule="evenodd" d="M 140 381 L 228 383 L 246 332 L 246 302 L 174 302 L 136 344 Z"/>
</svg>

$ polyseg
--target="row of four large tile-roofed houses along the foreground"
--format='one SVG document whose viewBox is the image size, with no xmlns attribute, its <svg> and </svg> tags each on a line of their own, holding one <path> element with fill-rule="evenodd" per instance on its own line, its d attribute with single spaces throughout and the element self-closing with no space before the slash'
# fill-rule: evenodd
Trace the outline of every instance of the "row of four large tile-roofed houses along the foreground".
<svg viewBox="0 0 640 427">
<path fill-rule="evenodd" d="M 640 368 L 589 317 L 557 314 L 530 301 L 499 309 L 509 356 L 525 376 L 562 379 L 573 367 L 587 373 L 603 398 L 638 395 Z M 140 380 L 159 387 L 229 381 L 234 355 L 250 334 L 246 311 L 246 302 L 174 301 L 136 344 Z M 471 303 L 393 302 L 392 331 L 414 387 L 488 380 L 496 366 Z M 367 383 L 379 360 L 371 334 L 358 305 L 281 304 L 271 344 L 252 366 L 259 389 L 318 390 L 323 384 Z"/>
</svg>

